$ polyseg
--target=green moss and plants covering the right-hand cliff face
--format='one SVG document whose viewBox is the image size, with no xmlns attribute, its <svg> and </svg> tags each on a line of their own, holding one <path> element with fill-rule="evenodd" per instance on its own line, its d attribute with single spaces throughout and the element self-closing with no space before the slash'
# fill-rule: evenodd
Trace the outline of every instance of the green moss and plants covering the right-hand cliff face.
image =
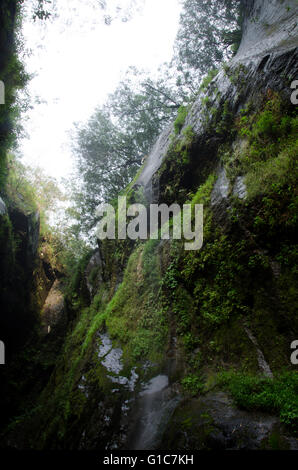
<svg viewBox="0 0 298 470">
<path fill-rule="evenodd" d="M 83 374 L 88 387 L 98 392 L 98 401 L 111 398 L 113 385 L 97 357 L 97 333 L 106 327 L 113 344 L 123 348 L 124 374 L 145 359 L 161 364 L 171 329 L 186 358 L 182 385 L 188 393 L 214 387 L 215 372 L 235 366 L 240 372 L 223 375 L 218 386 L 227 387 L 238 405 L 278 412 L 283 422 L 297 426 L 296 376 L 284 374 L 272 381 L 248 375 L 256 374 L 259 366 L 244 325 L 253 331 L 274 373 L 289 363 L 288 338 L 297 329 L 297 120 L 287 114 L 277 95 L 267 98 L 258 111 L 244 109 L 236 122 L 228 102 L 218 113 L 212 112 L 210 130 L 226 136 L 220 156 L 228 175 L 233 181 L 246 174 L 248 186 L 247 200 L 230 199 L 226 227 L 217 225 L 210 205 L 213 170 L 208 167 L 207 177 L 200 175 L 199 180 L 189 176 L 197 168 L 197 145 L 190 126 L 177 137 L 186 108 L 179 112 L 176 137 L 158 174 L 161 200 L 204 204 L 201 250 L 186 252 L 182 241 L 105 241 L 101 248 L 108 260 L 105 279 L 109 281 L 103 282 L 91 305 L 84 284 L 90 254 L 79 263 L 69 296 L 72 325 L 39 401 L 42 426 L 36 435 L 42 429 L 40 447 L 51 435 L 63 442 L 69 427 L 80 422 L 87 406 L 77 389 Z M 237 152 L 229 142 L 234 134 L 247 144 Z M 207 141 L 207 150 L 208 145 Z M 198 186 L 198 181 L 204 182 Z M 142 197 L 131 188 L 127 194 L 130 201 Z M 277 274 L 272 270 L 276 262 Z M 124 276 L 117 286 L 119 272 Z M 95 276 L 96 270 L 90 279 Z M 183 430 L 192 426 L 189 414 L 181 419 Z M 270 445 L 279 445 L 274 435 Z"/>
</svg>

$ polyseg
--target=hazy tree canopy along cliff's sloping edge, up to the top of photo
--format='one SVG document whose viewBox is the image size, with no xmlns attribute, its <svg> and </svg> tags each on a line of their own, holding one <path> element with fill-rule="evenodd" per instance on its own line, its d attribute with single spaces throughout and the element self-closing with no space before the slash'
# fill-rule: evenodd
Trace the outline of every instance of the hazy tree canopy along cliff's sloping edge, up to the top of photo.
<svg viewBox="0 0 298 470">
<path fill-rule="evenodd" d="M 72 215 L 86 232 L 96 222 L 96 207 L 127 186 L 165 125 L 194 98 L 204 75 L 235 52 L 240 7 L 237 0 L 185 0 L 172 61 L 157 76 L 131 67 L 104 106 L 76 125 Z"/>
</svg>

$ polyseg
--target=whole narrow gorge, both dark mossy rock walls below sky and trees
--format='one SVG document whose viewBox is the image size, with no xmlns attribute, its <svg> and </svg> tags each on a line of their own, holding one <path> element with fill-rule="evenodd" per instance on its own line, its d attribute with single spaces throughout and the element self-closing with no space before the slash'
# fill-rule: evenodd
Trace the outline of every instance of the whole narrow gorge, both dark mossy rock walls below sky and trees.
<svg viewBox="0 0 298 470">
<path fill-rule="evenodd" d="M 1 192 L 0 448 L 298 450 L 298 7 L 243 5 L 236 55 L 121 193 L 203 204 L 200 250 L 97 240 L 69 279 Z"/>
</svg>

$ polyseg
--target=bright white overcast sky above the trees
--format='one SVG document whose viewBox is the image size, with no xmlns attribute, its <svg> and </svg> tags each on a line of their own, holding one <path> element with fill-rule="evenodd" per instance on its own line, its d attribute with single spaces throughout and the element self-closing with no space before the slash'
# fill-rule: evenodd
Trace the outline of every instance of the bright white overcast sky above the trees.
<svg viewBox="0 0 298 470">
<path fill-rule="evenodd" d="M 154 71 L 171 59 L 179 0 L 143 2 L 133 19 L 115 20 L 110 26 L 86 0 L 58 0 L 54 21 L 24 23 L 25 46 L 32 51 L 26 68 L 36 73 L 30 94 L 45 102 L 28 111 L 29 138 L 20 145 L 23 163 L 39 165 L 58 179 L 67 176 L 73 122 L 86 121 L 129 66 Z"/>
</svg>

